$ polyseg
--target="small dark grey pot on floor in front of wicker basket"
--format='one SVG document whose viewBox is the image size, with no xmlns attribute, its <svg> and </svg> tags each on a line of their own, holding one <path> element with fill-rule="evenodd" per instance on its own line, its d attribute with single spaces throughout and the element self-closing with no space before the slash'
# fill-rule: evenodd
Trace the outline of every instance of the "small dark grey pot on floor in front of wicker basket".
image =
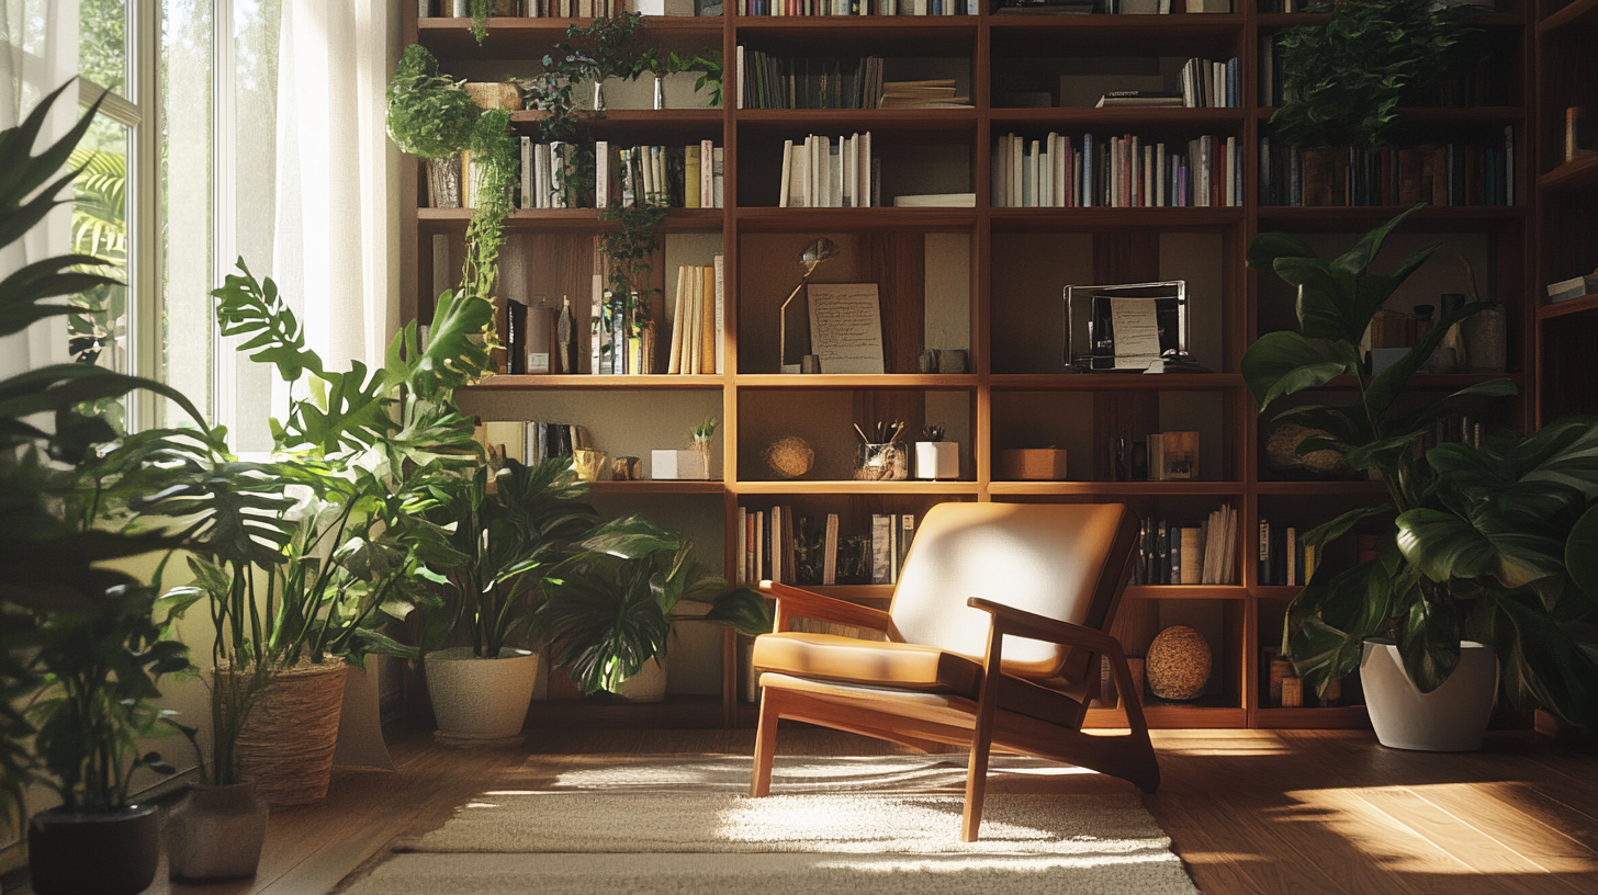
<svg viewBox="0 0 1598 895">
<path fill-rule="evenodd" d="M 166 815 L 168 876 L 184 882 L 256 876 L 268 812 L 256 798 L 254 782 L 192 786 Z"/>
</svg>

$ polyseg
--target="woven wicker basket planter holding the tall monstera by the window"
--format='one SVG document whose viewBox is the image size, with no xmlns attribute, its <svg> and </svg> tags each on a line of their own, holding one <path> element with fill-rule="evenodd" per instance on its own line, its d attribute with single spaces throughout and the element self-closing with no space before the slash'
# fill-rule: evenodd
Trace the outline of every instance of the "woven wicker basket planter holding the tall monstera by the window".
<svg viewBox="0 0 1598 895">
<path fill-rule="evenodd" d="M 308 665 L 278 671 L 238 734 L 238 772 L 268 806 L 308 806 L 328 798 L 339 711 L 350 668 Z"/>
</svg>

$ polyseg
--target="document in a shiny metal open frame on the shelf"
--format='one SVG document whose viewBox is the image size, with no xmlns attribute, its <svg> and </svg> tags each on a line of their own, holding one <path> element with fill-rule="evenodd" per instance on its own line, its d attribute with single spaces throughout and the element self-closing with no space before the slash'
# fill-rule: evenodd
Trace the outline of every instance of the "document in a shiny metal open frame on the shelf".
<svg viewBox="0 0 1598 895">
<path fill-rule="evenodd" d="M 1146 372 L 1155 361 L 1187 363 L 1187 283 L 1066 286 L 1066 366 Z"/>
</svg>

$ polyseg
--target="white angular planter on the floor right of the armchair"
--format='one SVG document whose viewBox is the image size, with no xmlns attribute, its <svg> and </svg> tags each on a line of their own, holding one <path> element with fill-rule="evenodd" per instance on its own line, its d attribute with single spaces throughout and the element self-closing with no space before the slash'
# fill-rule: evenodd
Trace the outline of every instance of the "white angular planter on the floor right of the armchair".
<svg viewBox="0 0 1598 895">
<path fill-rule="evenodd" d="M 1481 748 L 1497 697 L 1497 655 L 1475 641 L 1459 644 L 1459 665 L 1443 686 L 1422 694 L 1403 668 L 1398 646 L 1365 641 L 1360 686 L 1376 738 L 1389 748 L 1464 753 Z"/>
</svg>

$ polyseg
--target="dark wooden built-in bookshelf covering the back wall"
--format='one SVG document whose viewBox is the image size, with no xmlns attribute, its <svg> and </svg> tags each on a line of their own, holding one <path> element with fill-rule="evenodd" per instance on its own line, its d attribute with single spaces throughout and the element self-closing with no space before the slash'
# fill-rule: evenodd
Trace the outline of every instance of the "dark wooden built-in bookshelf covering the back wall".
<svg viewBox="0 0 1598 895">
<path fill-rule="evenodd" d="M 1536 6 L 1536 8 L 1532 8 Z M 1512 0 L 1481 21 L 1497 48 L 1509 50 L 1502 83 L 1510 96 L 1496 105 L 1470 109 L 1408 109 L 1403 117 L 1417 133 L 1473 134 L 1513 128 L 1517 201 L 1512 206 L 1425 208 L 1414 214 L 1395 241 L 1443 240 L 1448 251 L 1429 265 L 1437 275 L 1408 292 L 1413 304 L 1435 302 L 1437 292 L 1465 291 L 1454 275 L 1470 256 L 1488 300 L 1504 302 L 1509 318 L 1509 376 L 1523 392 L 1502 404 L 1496 422 L 1528 427 L 1539 417 L 1537 396 L 1550 388 L 1553 369 L 1587 369 L 1598 355 L 1598 305 L 1592 297 L 1539 308 L 1542 286 L 1592 270 L 1598 257 L 1590 233 L 1598 232 L 1598 160 L 1555 163 L 1552 149 L 1563 126 L 1563 107 L 1598 107 L 1598 83 L 1590 66 L 1576 66 L 1576 50 L 1560 42 L 1598 40 L 1598 0 Z M 943 500 L 976 502 L 1096 502 L 1130 503 L 1139 515 L 1171 521 L 1202 519 L 1214 505 L 1238 511 L 1240 583 L 1138 585 L 1127 591 L 1119 625 L 1128 650 L 1147 646 L 1165 623 L 1194 622 L 1205 630 L 1214 663 L 1210 692 L 1192 703 L 1151 700 L 1147 716 L 1160 727 L 1361 727 L 1363 706 L 1270 708 L 1261 694 L 1261 647 L 1274 646 L 1293 587 L 1262 587 L 1254 569 L 1253 540 L 1261 518 L 1299 529 L 1325 521 L 1352 502 L 1384 492 L 1381 483 L 1349 479 L 1282 479 L 1266 468 L 1264 425 L 1240 374 L 1240 360 L 1259 334 L 1291 321 L 1291 296 L 1272 278 L 1245 265 L 1250 240 L 1266 230 L 1306 235 L 1341 251 L 1352 238 L 1385 222 L 1397 208 L 1278 208 L 1261 206 L 1259 160 L 1254 149 L 1269 133 L 1274 109 L 1259 102 L 1258 51 L 1262 37 L 1323 21 L 1314 14 L 1259 14 L 1246 0 L 1230 14 L 1170 16 L 821 16 L 743 18 L 729 6 L 725 18 L 649 18 L 644 42 L 662 48 L 721 48 L 727 59 L 725 109 L 609 109 L 585 113 L 582 139 L 673 142 L 714 139 L 725 150 L 725 208 L 671 209 L 662 232 L 663 254 L 655 256 L 654 286 L 671 284 L 668 265 L 682 264 L 682 245 L 703 246 L 719 235 L 725 278 L 725 372 L 719 376 L 518 376 L 494 377 L 470 398 L 515 406 L 524 419 L 540 419 L 550 401 L 582 408 L 593 419 L 631 414 L 639 427 L 658 435 L 662 448 L 681 446 L 681 433 L 697 419 L 687 411 L 658 408 L 684 401 L 719 406 L 719 459 L 713 481 L 599 483 L 596 497 L 609 507 L 694 503 L 713 518 L 729 572 L 735 571 L 733 531 L 740 507 L 796 507 L 799 515 L 828 511 L 845 519 L 871 513 L 922 513 Z M 439 56 L 441 69 L 470 80 L 529 75 L 550 45 L 564 37 L 569 19 L 491 19 L 483 46 L 462 19 L 411 19 L 406 38 Z M 1574 37 L 1572 37 L 1574 35 Z M 737 109 L 737 48 L 777 54 L 880 54 L 920 72 L 946 66 L 964 90 L 967 109 L 893 110 L 778 110 Z M 1590 46 L 1590 45 L 1588 45 Z M 1563 53 L 1563 54 L 1561 54 Z M 1205 58 L 1238 56 L 1240 104 L 1227 109 L 1095 109 L 1000 107 L 994 94 L 1020 75 L 1023 64 L 1039 66 L 1032 91 L 1058 86 L 1061 72 L 1077 72 L 1095 58 Z M 1074 58 L 1072 62 L 1059 62 Z M 1018 59 L 1026 62 L 1018 62 Z M 1042 59 L 1042 61 L 1039 61 Z M 1585 58 L 1584 58 L 1585 59 Z M 1050 67 L 1053 66 L 1053 67 Z M 1571 74 L 1580 69 L 1579 75 Z M 898 80 L 892 74 L 890 80 Z M 900 75 L 912 77 L 941 75 Z M 1053 85 L 1050 78 L 1055 78 Z M 1584 80 L 1585 78 L 1585 80 Z M 1040 85 L 1040 86 L 1039 86 Z M 964 93 L 962 90 L 962 93 Z M 1058 101 L 1058 94 L 1055 94 Z M 1556 112 L 1556 115 L 1555 115 Z M 542 112 L 516 112 L 513 126 L 535 134 Z M 871 131 L 884 160 L 884 205 L 892 205 L 890 181 L 900 193 L 972 192 L 975 208 L 775 208 L 770 189 L 778 176 L 785 139 L 807 133 Z M 1243 189 L 1237 206 L 1222 208 L 996 208 L 992 205 L 994 142 L 1008 133 L 1037 139 L 1048 131 L 1080 137 L 1149 134 L 1186 141 L 1195 136 L 1235 137 L 1243 155 Z M 662 134 L 658 139 L 652 134 Z M 880 147 L 877 145 L 880 142 Z M 773 147 L 775 155 L 773 158 Z M 420 208 L 420 176 L 406 160 L 403 216 L 403 315 L 431 313 L 430 245 L 436 233 L 459 238 L 470 211 Z M 1548 201 L 1550 197 L 1555 201 Z M 510 233 L 539 240 L 555 253 L 548 289 L 588 296 L 591 243 L 610 224 L 594 209 L 515 211 Z M 1571 233 L 1564 237 L 1561 233 Z M 1580 233 L 1580 240 L 1574 235 Z M 845 246 L 841 261 L 818 267 L 813 283 L 877 283 L 884 307 L 885 374 L 783 376 L 775 366 L 775 308 L 799 281 L 796 254 L 809 240 L 828 235 Z M 1341 240 L 1341 243 L 1339 243 Z M 1563 241 L 1561 241 L 1563 240 Z M 1577 245 L 1580 243 L 1580 245 Z M 700 251 L 700 249 L 694 249 Z M 1390 249 L 1393 256 L 1413 248 Z M 1536 256 L 1536 262 L 1531 259 Z M 1584 270 L 1569 268 L 1585 264 Z M 585 267 L 585 264 L 588 267 Z M 687 264 L 703 264 L 690 261 Z M 1446 270 L 1445 270 L 1446 268 Z M 1168 376 L 1077 374 L 1064 366 L 1063 299 L 1067 284 L 1139 283 L 1167 278 L 1189 281 L 1195 315 L 1195 348 L 1213 372 Z M 1424 278 L 1422 278 L 1424 280 Z M 1566 307 L 1569 305 L 1569 307 Z M 1558 308 L 1558 310 L 1552 310 Z M 802 307 L 789 308 L 793 320 Z M 1558 315 L 1555 337 L 1539 323 Z M 658 316 L 663 320 L 662 315 Z M 935 323 L 928 323 L 935 321 Z M 917 372 L 916 358 L 930 328 L 936 347 L 968 350 L 968 372 Z M 582 326 L 580 326 L 582 329 Z M 948 332 L 954 336 L 948 336 Z M 1580 337 L 1571 336 L 1585 334 Z M 948 339 L 964 339 L 964 344 Z M 1555 344 L 1558 339 L 1563 342 Z M 1574 339 L 1574 342 L 1572 342 Z M 1582 342 L 1580 339 L 1587 339 Z M 1580 352 L 1585 352 L 1582 355 Z M 578 348 L 578 356 L 585 352 Z M 663 352 L 662 352 L 663 353 Z M 1572 363 L 1580 358 L 1584 363 Z M 1489 374 L 1448 374 L 1416 379 L 1427 390 L 1456 390 Z M 1584 380 L 1590 387 L 1590 374 Z M 1574 388 L 1574 379 L 1564 385 Z M 575 395 L 575 396 L 574 396 Z M 1315 401 L 1354 400 L 1352 384 L 1333 382 Z M 580 403 L 574 403 L 580 401 Z M 673 403 L 676 401 L 676 403 Z M 673 417 L 671 414 L 678 414 Z M 839 473 L 839 457 L 852 455 L 849 422 L 873 419 L 946 422 L 957 432 L 962 476 L 957 481 L 861 483 Z M 572 422 L 583 422 L 574 419 Z M 1189 425 L 1189 422 L 1192 425 Z M 1205 428 L 1208 427 L 1208 428 Z M 1114 436 L 1200 428 L 1208 432 L 1202 455 L 1211 473 L 1200 481 L 1107 481 L 1103 446 Z M 762 449 L 777 436 L 797 433 L 818 454 L 815 473 L 778 479 L 762 462 Z M 1071 481 L 1004 481 L 994 478 L 997 451 L 1042 446 L 1059 440 L 1069 449 Z M 1031 444 L 1036 441 L 1036 444 Z M 606 444 L 599 444 L 606 448 Z M 638 451 L 633 451 L 638 452 Z M 821 460 L 831 462 L 825 467 Z M 847 463 L 845 463 L 847 465 Z M 868 534 L 858 529 L 845 534 Z M 885 585 L 820 588 L 842 599 L 885 606 Z M 572 726 L 749 724 L 753 708 L 741 702 L 738 650 L 729 634 L 719 649 L 721 694 L 673 695 L 665 706 L 623 706 L 604 700 L 556 700 L 535 706 L 548 722 Z M 687 662 L 673 652 L 673 663 Z M 716 662 L 716 657 L 702 657 Z M 1090 724 L 1125 722 L 1119 710 L 1095 708 Z"/>
</svg>

